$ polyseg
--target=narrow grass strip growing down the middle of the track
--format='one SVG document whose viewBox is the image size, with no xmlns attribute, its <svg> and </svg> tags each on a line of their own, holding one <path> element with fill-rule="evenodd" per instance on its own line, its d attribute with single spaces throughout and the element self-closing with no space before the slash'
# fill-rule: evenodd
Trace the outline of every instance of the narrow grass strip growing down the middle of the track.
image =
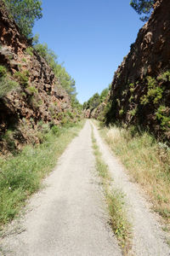
<svg viewBox="0 0 170 256">
<path fill-rule="evenodd" d="M 102 159 L 102 154 L 99 151 L 99 147 L 94 138 L 94 131 L 92 131 L 92 142 L 96 160 L 96 169 L 99 172 L 99 177 L 101 177 L 105 201 L 110 214 L 111 229 L 114 231 L 119 245 L 122 247 L 123 254 L 127 255 L 131 248 L 131 225 L 127 220 L 127 212 L 124 207 L 124 195 L 121 190 L 113 188 L 108 166 Z"/>
</svg>

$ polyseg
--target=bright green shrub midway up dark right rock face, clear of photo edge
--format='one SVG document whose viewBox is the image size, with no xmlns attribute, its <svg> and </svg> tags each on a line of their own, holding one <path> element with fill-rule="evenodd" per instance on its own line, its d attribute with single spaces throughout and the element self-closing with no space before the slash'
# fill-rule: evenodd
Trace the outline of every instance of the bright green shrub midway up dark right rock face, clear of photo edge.
<svg viewBox="0 0 170 256">
<path fill-rule="evenodd" d="M 147 77 L 147 94 L 142 96 L 141 99 L 141 104 L 145 105 L 147 103 L 153 102 L 154 104 L 158 103 L 161 100 L 162 93 L 164 88 L 162 86 L 159 86 L 157 84 L 156 79 Z"/>
</svg>

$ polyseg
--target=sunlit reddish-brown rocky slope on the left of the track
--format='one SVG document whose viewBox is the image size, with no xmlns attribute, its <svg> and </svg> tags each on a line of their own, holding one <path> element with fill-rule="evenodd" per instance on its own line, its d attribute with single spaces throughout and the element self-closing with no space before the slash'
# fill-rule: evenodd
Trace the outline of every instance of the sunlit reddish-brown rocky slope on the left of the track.
<svg viewBox="0 0 170 256">
<path fill-rule="evenodd" d="M 8 140 L 13 134 L 15 148 L 24 143 L 39 143 L 39 123 L 58 125 L 61 115 L 72 110 L 71 99 L 59 85 L 52 69 L 20 33 L 3 4 L 0 27 L 0 65 L 8 72 L 8 79 L 1 79 L 0 90 L 3 83 L 8 89 L 8 81 L 18 84 L 14 90 L 7 90 L 0 96 L 0 148 L 4 151 L 8 149 L 4 143 L 8 130 L 11 131 Z"/>
</svg>

